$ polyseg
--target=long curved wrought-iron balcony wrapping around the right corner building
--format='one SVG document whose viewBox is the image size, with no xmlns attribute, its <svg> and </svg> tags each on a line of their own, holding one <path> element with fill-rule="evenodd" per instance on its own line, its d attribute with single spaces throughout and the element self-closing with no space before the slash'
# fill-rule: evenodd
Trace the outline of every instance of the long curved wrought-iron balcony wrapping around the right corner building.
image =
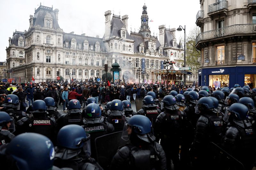
<svg viewBox="0 0 256 170">
<path fill-rule="evenodd" d="M 196 44 L 198 43 L 198 41 L 210 40 L 213 38 L 224 37 L 228 35 L 248 33 L 256 33 L 256 24 L 233 25 L 199 33 L 196 37 Z"/>
</svg>

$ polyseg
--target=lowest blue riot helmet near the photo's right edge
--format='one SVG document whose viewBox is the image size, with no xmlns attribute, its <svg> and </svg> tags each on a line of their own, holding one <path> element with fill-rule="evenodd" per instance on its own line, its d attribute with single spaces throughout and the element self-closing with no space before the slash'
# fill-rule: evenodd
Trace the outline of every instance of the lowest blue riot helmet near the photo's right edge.
<svg viewBox="0 0 256 170">
<path fill-rule="evenodd" d="M 229 108 L 229 113 L 236 120 L 244 120 L 247 119 L 248 108 L 241 103 L 234 103 Z"/>
</svg>

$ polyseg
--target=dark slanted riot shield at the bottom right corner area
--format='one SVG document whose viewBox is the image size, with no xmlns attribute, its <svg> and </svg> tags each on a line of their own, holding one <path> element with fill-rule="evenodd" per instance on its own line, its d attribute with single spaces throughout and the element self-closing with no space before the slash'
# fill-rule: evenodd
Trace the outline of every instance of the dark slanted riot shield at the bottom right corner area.
<svg viewBox="0 0 256 170">
<path fill-rule="evenodd" d="M 210 143 L 210 152 L 212 153 L 212 163 L 211 166 L 214 166 L 212 169 L 221 169 L 223 170 L 243 170 L 244 165 L 231 156 L 228 152 L 221 149 L 218 145 L 213 142 Z"/>
</svg>

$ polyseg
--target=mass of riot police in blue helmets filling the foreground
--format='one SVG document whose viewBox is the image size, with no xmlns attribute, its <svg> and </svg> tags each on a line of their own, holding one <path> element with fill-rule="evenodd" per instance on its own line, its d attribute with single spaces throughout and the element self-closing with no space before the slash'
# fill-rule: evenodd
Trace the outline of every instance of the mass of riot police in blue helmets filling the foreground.
<svg viewBox="0 0 256 170">
<path fill-rule="evenodd" d="M 167 88 L 162 89 L 167 92 Z M 139 103 L 141 101 L 142 103 Z M 245 169 L 255 163 L 256 89 L 235 85 L 211 92 L 188 88 L 159 98 L 89 97 L 59 113 L 52 97 L 26 112 L 18 95 L 0 112 L 1 169 Z M 16 137 L 15 137 L 16 136 Z"/>
</svg>

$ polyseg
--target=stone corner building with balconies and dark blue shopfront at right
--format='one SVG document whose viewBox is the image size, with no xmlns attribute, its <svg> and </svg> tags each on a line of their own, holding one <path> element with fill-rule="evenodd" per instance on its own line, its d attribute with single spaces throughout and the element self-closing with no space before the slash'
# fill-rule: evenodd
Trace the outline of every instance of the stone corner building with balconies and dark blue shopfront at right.
<svg viewBox="0 0 256 170">
<path fill-rule="evenodd" d="M 256 1 L 200 0 L 196 25 L 201 33 L 199 85 L 256 84 Z"/>
</svg>

